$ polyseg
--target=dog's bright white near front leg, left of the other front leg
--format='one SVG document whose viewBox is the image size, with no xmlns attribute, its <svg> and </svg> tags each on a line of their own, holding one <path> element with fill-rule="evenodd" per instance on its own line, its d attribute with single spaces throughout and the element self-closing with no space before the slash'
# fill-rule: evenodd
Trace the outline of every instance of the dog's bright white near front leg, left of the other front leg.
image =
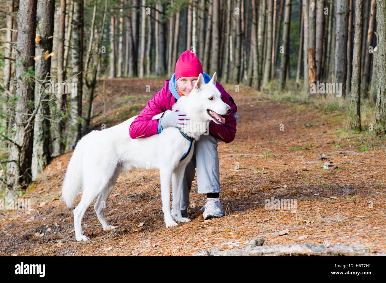
<svg viewBox="0 0 386 283">
<path fill-rule="evenodd" d="M 164 220 L 165 220 L 166 227 L 177 226 L 178 224 L 176 222 L 174 222 L 173 217 L 171 216 L 171 213 L 170 213 L 171 169 L 170 168 L 160 168 L 159 169 L 159 177 L 161 180 L 162 211 L 164 213 Z"/>
</svg>

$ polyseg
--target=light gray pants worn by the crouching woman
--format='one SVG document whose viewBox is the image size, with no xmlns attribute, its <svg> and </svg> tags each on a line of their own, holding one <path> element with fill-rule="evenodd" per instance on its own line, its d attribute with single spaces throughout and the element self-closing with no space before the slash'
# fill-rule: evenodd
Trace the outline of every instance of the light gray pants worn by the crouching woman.
<svg viewBox="0 0 386 283">
<path fill-rule="evenodd" d="M 237 113 L 235 113 L 237 123 Z M 217 143 L 212 135 L 201 136 L 195 142 L 193 157 L 186 165 L 182 183 L 181 210 L 189 207 L 189 193 L 197 168 L 197 188 L 199 194 L 220 193 L 220 167 L 218 165 Z M 193 148 L 192 148 L 193 149 Z"/>
</svg>

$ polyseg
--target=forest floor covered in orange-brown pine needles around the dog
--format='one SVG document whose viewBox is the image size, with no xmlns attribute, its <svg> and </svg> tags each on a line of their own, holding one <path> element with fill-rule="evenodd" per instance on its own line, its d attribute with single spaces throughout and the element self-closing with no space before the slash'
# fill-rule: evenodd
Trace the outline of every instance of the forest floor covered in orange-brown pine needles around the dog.
<svg viewBox="0 0 386 283">
<path fill-rule="evenodd" d="M 163 81 L 106 80 L 105 114 L 100 83 L 94 113 L 102 114 L 91 128 L 108 128 L 138 114 Z M 224 87 L 239 114 L 235 140 L 218 143 L 225 217 L 203 220 L 204 196 L 197 193 L 195 179 L 188 210 L 192 221 L 166 228 L 158 170 L 133 169 L 121 173 L 108 199 L 107 221 L 116 230 L 103 231 L 94 201 L 83 218 L 91 242 L 76 242 L 73 209 L 80 196 L 71 209 L 60 197 L 72 155 L 67 152 L 54 158 L 24 194 L 31 199 L 30 210 L 0 212 L 0 255 L 186 256 L 244 247 L 255 237 L 264 237 L 264 245 L 342 244 L 386 252 L 384 140 L 370 145 L 369 131 L 346 133 L 347 116 L 339 107 Z M 318 161 L 323 153 L 332 154 Z M 323 169 L 328 161 L 334 166 Z M 266 207 L 272 199 L 296 200 L 296 209 Z M 288 232 L 279 235 L 283 230 Z"/>
</svg>

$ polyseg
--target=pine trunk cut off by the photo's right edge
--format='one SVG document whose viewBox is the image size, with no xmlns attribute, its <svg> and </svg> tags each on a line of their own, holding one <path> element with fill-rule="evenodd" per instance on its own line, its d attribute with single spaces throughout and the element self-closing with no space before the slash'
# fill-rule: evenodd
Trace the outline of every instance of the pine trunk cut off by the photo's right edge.
<svg viewBox="0 0 386 283">
<path fill-rule="evenodd" d="M 386 2 L 378 0 L 377 3 L 377 113 L 375 117 L 375 130 L 377 136 L 386 135 Z"/>
</svg>

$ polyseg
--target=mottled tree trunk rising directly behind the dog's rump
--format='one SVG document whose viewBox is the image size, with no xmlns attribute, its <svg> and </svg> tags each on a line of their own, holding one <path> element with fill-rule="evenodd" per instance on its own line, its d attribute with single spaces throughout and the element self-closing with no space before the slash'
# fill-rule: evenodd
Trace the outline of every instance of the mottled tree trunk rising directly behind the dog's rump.
<svg viewBox="0 0 386 283">
<path fill-rule="evenodd" d="M 81 115 L 82 115 L 82 94 L 83 94 L 83 0 L 74 2 L 73 15 L 73 48 L 71 51 L 73 61 L 73 72 L 71 73 L 72 84 L 76 85 L 71 89 L 71 111 L 70 149 L 75 148 L 81 138 Z"/>
</svg>

